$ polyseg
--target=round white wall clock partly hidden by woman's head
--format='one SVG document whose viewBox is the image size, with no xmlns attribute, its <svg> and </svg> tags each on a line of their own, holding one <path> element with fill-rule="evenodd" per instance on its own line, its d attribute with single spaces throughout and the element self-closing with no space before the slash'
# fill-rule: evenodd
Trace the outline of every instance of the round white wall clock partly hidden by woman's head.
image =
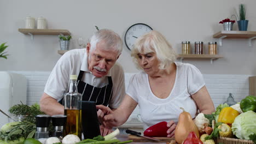
<svg viewBox="0 0 256 144">
<path fill-rule="evenodd" d="M 132 25 L 125 33 L 125 45 L 131 50 L 138 37 L 152 30 L 153 29 L 150 26 L 144 23 L 136 23 L 135 25 Z"/>
</svg>

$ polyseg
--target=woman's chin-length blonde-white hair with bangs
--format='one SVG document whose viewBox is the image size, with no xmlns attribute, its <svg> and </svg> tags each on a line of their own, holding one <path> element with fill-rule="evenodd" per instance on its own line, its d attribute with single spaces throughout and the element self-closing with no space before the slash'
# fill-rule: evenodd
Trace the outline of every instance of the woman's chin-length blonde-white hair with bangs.
<svg viewBox="0 0 256 144">
<path fill-rule="evenodd" d="M 168 43 L 164 35 L 157 31 L 150 31 L 135 41 L 131 56 L 138 69 L 142 69 L 138 63 L 138 53 L 146 54 L 150 52 L 156 54 L 160 62 L 159 69 L 167 70 L 167 72 L 169 71 L 168 68 L 177 58 L 177 53 L 173 50 L 171 44 Z"/>
</svg>

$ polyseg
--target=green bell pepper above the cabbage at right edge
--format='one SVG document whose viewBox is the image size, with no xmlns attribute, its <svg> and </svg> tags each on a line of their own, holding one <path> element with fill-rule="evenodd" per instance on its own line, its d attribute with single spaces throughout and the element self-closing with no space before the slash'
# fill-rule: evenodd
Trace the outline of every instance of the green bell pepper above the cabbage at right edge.
<svg viewBox="0 0 256 144">
<path fill-rule="evenodd" d="M 240 108 L 243 112 L 256 112 L 256 97 L 254 97 L 253 95 L 249 95 L 245 99 L 242 99 L 240 102 Z"/>
</svg>

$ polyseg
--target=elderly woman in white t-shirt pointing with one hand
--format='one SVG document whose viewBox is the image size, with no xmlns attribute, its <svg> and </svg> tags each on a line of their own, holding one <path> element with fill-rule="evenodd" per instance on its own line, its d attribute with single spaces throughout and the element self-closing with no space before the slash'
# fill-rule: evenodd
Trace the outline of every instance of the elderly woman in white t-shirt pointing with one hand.
<svg viewBox="0 0 256 144">
<path fill-rule="evenodd" d="M 174 137 L 182 112 L 180 107 L 193 118 L 198 110 L 205 114 L 214 111 L 199 69 L 188 63 L 174 62 L 177 54 L 159 32 L 150 31 L 138 38 L 131 56 L 143 72 L 131 77 L 126 96 L 117 110 L 97 106 L 105 113 L 104 124 L 117 127 L 125 123 L 139 105 L 144 129 L 166 121 L 167 137 Z"/>
</svg>

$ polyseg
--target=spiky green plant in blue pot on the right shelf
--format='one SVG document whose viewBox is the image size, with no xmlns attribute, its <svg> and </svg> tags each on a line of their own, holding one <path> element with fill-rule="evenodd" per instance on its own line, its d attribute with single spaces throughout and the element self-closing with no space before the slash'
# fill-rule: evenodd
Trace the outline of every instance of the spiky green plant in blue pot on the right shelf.
<svg viewBox="0 0 256 144">
<path fill-rule="evenodd" d="M 245 4 L 239 4 L 238 11 L 239 11 L 239 16 L 238 15 L 236 16 L 236 17 L 239 17 L 239 21 L 237 21 L 238 29 L 239 31 L 247 31 L 247 26 L 249 21 L 246 20 Z"/>
</svg>

